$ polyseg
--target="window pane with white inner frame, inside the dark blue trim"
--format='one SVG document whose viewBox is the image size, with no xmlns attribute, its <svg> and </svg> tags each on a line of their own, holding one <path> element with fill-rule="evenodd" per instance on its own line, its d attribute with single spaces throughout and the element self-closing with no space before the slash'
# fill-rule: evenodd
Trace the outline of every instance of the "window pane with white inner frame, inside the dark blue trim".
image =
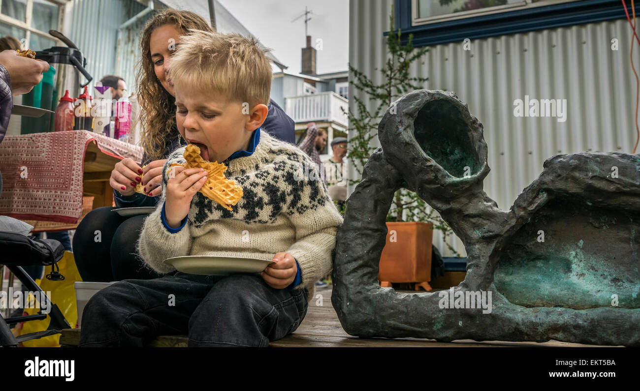
<svg viewBox="0 0 640 391">
<path fill-rule="evenodd" d="M 576 0 L 413 0 L 413 25 Z"/>
</svg>

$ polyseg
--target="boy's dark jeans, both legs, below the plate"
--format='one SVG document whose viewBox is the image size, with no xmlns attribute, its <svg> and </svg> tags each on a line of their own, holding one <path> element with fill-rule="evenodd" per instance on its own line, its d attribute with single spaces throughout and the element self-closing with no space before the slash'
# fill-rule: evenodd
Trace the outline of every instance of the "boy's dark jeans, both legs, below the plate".
<svg viewBox="0 0 640 391">
<path fill-rule="evenodd" d="M 145 346 L 189 335 L 189 346 L 262 346 L 294 332 L 307 289 L 274 289 L 259 275 L 186 273 L 116 282 L 84 307 L 79 346 Z"/>
</svg>

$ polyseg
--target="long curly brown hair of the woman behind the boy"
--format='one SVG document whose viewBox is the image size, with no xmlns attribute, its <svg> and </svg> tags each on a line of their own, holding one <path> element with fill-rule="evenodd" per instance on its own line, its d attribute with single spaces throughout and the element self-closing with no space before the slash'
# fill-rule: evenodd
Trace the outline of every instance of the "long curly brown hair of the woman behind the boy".
<svg viewBox="0 0 640 391">
<path fill-rule="evenodd" d="M 164 150 L 173 137 L 175 127 L 175 98 L 164 89 L 154 72 L 149 42 L 157 27 L 171 24 L 185 35 L 189 29 L 212 31 L 207 21 L 191 11 L 164 8 L 145 25 L 140 40 L 142 58 L 136 75 L 138 103 L 141 108 L 142 146 L 150 160 L 163 158 Z M 175 134 L 177 136 L 177 133 Z M 144 163 L 144 162 L 143 162 Z"/>
</svg>

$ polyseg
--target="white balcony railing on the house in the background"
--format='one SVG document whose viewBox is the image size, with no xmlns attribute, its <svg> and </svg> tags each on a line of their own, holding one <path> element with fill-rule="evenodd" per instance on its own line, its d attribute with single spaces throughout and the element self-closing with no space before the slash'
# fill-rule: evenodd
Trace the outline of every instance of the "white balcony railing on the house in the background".
<svg viewBox="0 0 640 391">
<path fill-rule="evenodd" d="M 285 112 L 296 123 L 328 121 L 346 128 L 349 116 L 342 112 L 341 107 L 348 111 L 349 101 L 333 91 L 285 98 Z"/>
</svg>

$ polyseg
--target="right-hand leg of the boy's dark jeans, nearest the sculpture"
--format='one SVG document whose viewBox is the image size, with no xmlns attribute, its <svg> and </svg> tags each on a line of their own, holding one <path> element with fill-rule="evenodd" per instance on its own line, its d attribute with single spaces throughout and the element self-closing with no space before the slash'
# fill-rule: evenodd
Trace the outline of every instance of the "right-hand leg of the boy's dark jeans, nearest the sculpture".
<svg viewBox="0 0 640 391">
<path fill-rule="evenodd" d="M 275 289 L 259 275 L 223 277 L 189 320 L 189 346 L 269 346 L 298 328 L 307 306 L 306 288 Z"/>
</svg>

